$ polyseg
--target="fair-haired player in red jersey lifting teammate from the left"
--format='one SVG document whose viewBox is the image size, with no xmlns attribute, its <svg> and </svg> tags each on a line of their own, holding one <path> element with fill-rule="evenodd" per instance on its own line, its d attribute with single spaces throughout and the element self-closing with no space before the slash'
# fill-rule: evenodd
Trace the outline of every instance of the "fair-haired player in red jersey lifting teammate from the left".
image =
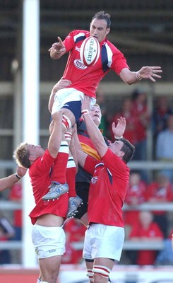
<svg viewBox="0 0 173 283">
<path fill-rule="evenodd" d="M 68 194 L 59 200 L 44 202 L 52 178 L 65 183 L 68 161 L 67 141 L 61 141 L 61 111 L 52 116 L 54 127 L 44 151 L 40 145 L 20 144 L 14 158 L 20 166 L 29 168 L 35 207 L 30 212 L 32 221 L 32 242 L 40 264 L 41 281 L 56 283 L 62 255 L 65 252 L 65 233 L 62 225 L 68 209 Z M 59 166 L 61 164 L 61 166 Z M 61 189 L 61 186 L 59 186 Z"/>
</svg>

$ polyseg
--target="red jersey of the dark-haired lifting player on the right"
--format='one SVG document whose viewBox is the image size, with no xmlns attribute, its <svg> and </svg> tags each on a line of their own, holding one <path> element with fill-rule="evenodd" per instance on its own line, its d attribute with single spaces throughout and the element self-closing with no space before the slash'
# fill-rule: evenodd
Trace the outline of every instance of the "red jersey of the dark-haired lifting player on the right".
<svg viewBox="0 0 173 283">
<path fill-rule="evenodd" d="M 88 200 L 89 222 L 124 227 L 122 207 L 129 183 L 129 167 L 107 149 L 101 161 L 88 156 L 84 169 L 93 174 Z"/>
</svg>

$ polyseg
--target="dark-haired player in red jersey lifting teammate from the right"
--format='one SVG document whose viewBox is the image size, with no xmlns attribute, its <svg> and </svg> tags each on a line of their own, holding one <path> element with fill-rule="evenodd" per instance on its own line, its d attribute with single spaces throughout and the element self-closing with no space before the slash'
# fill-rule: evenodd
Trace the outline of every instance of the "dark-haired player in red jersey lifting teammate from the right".
<svg viewBox="0 0 173 283">
<path fill-rule="evenodd" d="M 114 260 L 119 261 L 124 244 L 122 206 L 129 183 L 129 167 L 126 163 L 133 157 L 134 146 L 122 137 L 126 127 L 123 117 L 119 118 L 115 129 L 117 140 L 107 146 L 100 130 L 88 115 L 89 105 L 90 98 L 85 96 L 82 104 L 84 120 L 101 160 L 97 161 L 83 152 L 76 134 L 78 162 L 93 175 L 83 258 L 90 282 L 107 283 Z"/>
</svg>

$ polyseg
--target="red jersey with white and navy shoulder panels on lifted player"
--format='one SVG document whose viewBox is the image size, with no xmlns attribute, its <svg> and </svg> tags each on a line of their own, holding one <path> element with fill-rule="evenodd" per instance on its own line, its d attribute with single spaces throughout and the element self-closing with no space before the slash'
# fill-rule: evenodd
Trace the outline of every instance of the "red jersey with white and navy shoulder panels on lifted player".
<svg viewBox="0 0 173 283">
<path fill-rule="evenodd" d="M 122 69 L 129 68 L 124 54 L 117 47 L 105 39 L 100 42 L 100 57 L 96 64 L 85 67 L 80 60 L 80 46 L 86 37 L 87 30 L 73 30 L 64 40 L 66 52 L 69 52 L 64 79 L 72 82 L 70 88 L 76 88 L 88 96 L 95 98 L 95 91 L 99 82 L 111 69 L 119 75 Z"/>
</svg>

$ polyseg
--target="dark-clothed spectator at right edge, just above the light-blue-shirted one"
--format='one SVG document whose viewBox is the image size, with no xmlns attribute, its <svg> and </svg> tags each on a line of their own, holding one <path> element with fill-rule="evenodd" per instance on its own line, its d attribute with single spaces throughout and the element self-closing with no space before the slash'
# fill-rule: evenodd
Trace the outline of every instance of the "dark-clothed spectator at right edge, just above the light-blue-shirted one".
<svg viewBox="0 0 173 283">
<path fill-rule="evenodd" d="M 154 139 L 157 135 L 167 129 L 167 118 L 173 114 L 173 108 L 170 107 L 167 96 L 159 96 L 156 100 L 156 107 L 153 109 L 153 134 Z"/>
</svg>

